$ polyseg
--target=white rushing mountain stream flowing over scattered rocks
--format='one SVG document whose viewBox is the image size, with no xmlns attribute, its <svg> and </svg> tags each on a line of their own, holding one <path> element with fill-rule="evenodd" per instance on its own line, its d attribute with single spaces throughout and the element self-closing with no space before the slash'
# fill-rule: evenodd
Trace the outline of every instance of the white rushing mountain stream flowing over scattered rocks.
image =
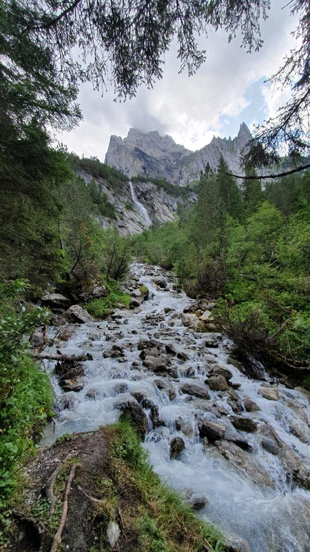
<svg viewBox="0 0 310 552">
<path fill-rule="evenodd" d="M 149 420 L 143 446 L 154 470 L 187 499 L 203 497 L 200 517 L 225 535 L 245 540 L 240 551 L 309 552 L 307 394 L 276 384 L 267 373 L 251 379 L 234 365 L 228 339 L 184 326 L 183 309 L 193 301 L 174 290 L 171 274 L 135 263 L 132 277 L 132 286 L 149 288 L 149 298 L 140 307 L 116 311 L 103 322 L 65 326 L 61 331 L 67 340 L 59 335 L 48 348 L 68 355 L 91 353 L 93 359 L 84 363 L 79 393 L 64 393 L 54 374 L 55 362 L 45 361 L 57 415 L 55 432 L 48 426 L 41 444 L 49 446 L 64 433 L 112 424 L 120 415 L 119 404 L 136 400 L 134 396 L 141 402 L 143 397 Z M 158 277 L 165 281 L 163 287 Z M 49 337 L 57 332 L 59 328 L 51 326 Z M 143 366 L 141 339 L 155 339 L 152 351 L 165 351 L 158 355 L 163 360 L 159 373 Z M 204 383 L 214 368 L 232 375 L 223 391 L 212 391 Z M 209 398 L 197 386 L 207 390 Z M 156 421 L 150 405 L 158 407 Z M 245 425 L 236 428 L 236 417 L 250 420 L 250 431 L 244 431 Z M 212 438 L 211 431 L 209 439 L 203 439 L 201 428 L 210 422 L 220 436 Z M 185 449 L 170 459 L 174 437 L 181 437 Z"/>
</svg>

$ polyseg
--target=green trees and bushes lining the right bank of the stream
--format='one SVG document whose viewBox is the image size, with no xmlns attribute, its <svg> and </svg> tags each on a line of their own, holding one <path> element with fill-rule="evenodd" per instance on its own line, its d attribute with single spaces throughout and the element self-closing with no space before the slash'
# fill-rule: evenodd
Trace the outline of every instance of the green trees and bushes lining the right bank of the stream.
<svg viewBox="0 0 310 552">
<path fill-rule="evenodd" d="M 309 364 L 310 173 L 262 190 L 238 188 L 221 159 L 200 177 L 198 203 L 133 238 L 143 259 L 174 268 L 192 297 L 214 297 L 218 328 L 240 349 L 285 366 Z"/>
</svg>

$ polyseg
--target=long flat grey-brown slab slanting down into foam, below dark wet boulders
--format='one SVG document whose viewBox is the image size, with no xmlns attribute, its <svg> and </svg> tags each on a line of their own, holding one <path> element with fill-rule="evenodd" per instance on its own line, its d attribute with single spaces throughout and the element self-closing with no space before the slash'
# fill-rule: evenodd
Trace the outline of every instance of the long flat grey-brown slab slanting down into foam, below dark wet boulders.
<svg viewBox="0 0 310 552">
<path fill-rule="evenodd" d="M 269 473 L 256 458 L 242 451 L 239 446 L 228 441 L 216 441 L 220 454 L 242 475 L 247 475 L 256 485 L 273 487 Z"/>
</svg>

